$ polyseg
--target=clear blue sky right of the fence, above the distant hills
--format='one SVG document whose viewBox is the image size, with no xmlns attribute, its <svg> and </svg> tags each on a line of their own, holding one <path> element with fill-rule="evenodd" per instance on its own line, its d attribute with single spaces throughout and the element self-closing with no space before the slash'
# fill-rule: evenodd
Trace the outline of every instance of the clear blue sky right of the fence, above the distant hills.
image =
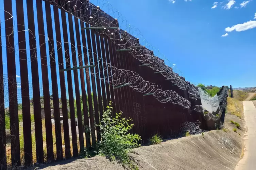
<svg viewBox="0 0 256 170">
<path fill-rule="evenodd" d="M 211 0 L 108 2 L 176 64 L 186 80 L 205 85 L 256 86 L 256 0 L 215 4 L 217 1 Z"/>
</svg>

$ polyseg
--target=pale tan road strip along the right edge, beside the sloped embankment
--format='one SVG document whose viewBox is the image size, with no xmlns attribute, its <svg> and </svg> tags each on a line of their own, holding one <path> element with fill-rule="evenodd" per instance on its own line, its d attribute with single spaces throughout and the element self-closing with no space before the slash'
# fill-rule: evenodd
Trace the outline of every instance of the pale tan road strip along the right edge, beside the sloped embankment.
<svg viewBox="0 0 256 170">
<path fill-rule="evenodd" d="M 256 167 L 256 108 L 252 101 L 245 101 L 243 109 L 247 126 L 247 132 L 244 135 L 244 157 L 239 161 L 235 170 L 254 170 Z"/>
</svg>

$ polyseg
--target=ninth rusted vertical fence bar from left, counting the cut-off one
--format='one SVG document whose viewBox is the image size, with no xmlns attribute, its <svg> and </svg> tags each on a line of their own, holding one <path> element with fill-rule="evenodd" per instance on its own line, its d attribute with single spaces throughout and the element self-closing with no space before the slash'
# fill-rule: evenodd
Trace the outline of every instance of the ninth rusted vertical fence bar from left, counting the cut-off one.
<svg viewBox="0 0 256 170">
<path fill-rule="evenodd" d="M 72 20 L 72 15 L 70 15 L 70 14 L 68 15 L 68 23 L 69 23 L 70 43 L 71 43 L 71 45 L 73 45 L 73 48 L 71 46 L 73 67 L 77 67 L 78 64 L 80 65 L 81 63 L 76 62 L 73 20 Z M 78 23 L 78 21 L 77 21 L 77 23 Z M 78 133 L 79 133 L 80 152 L 83 152 L 84 151 L 84 135 L 83 135 L 80 90 L 79 90 L 79 82 L 78 82 L 78 70 L 73 70 L 73 73 L 74 73 L 74 84 L 75 84 L 75 99 L 76 99 L 76 111 L 77 111 L 77 118 L 78 118 Z"/>
</svg>

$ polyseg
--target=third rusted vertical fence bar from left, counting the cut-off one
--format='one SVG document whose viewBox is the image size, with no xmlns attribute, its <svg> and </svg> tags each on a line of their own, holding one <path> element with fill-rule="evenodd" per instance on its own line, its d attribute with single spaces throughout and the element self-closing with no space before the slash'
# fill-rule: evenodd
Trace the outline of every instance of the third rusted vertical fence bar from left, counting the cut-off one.
<svg viewBox="0 0 256 170">
<path fill-rule="evenodd" d="M 18 41 L 22 42 L 25 38 L 23 2 L 16 0 Z M 21 99 L 22 99 L 22 118 L 23 118 L 23 137 L 24 137 L 24 163 L 26 166 L 32 165 L 32 136 L 31 133 L 31 115 L 29 98 L 29 77 L 26 43 L 19 43 L 20 58 L 20 81 L 21 81 Z"/>
</svg>

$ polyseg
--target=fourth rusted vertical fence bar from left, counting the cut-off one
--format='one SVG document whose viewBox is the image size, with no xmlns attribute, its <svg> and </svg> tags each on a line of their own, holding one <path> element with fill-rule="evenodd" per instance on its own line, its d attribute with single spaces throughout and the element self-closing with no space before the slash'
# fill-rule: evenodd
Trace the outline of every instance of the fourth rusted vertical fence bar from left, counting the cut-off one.
<svg viewBox="0 0 256 170">
<path fill-rule="evenodd" d="M 36 5 L 36 4 L 35 4 Z M 33 0 L 27 0 L 27 13 L 28 13 L 28 27 L 29 46 L 31 56 L 31 73 L 32 73 L 32 87 L 33 87 L 33 106 L 35 118 L 35 138 L 36 138 L 36 161 L 38 163 L 44 162 L 44 150 L 42 140 L 42 118 L 41 118 L 41 104 L 40 104 L 40 91 L 39 91 L 39 76 L 38 76 L 38 63 L 36 53 L 36 40 L 35 40 L 35 24 L 34 24 L 34 11 Z"/>
</svg>

